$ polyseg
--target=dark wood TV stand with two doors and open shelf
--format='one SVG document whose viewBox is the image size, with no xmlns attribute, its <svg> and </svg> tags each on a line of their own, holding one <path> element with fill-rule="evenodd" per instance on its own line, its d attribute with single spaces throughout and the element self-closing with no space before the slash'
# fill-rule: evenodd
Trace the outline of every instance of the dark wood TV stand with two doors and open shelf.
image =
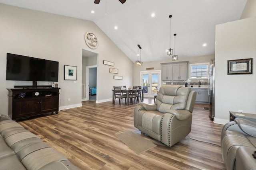
<svg viewBox="0 0 256 170">
<path fill-rule="evenodd" d="M 8 115 L 22 119 L 43 113 L 59 111 L 60 88 L 8 88 Z"/>
</svg>

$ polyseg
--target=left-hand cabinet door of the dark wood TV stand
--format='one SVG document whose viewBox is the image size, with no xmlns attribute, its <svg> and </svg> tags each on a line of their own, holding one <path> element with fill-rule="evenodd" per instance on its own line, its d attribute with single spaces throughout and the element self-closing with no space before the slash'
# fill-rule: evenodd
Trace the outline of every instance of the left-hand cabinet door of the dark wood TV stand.
<svg viewBox="0 0 256 170">
<path fill-rule="evenodd" d="M 39 100 L 34 98 L 15 99 L 13 101 L 12 119 L 28 117 L 38 113 Z"/>
</svg>

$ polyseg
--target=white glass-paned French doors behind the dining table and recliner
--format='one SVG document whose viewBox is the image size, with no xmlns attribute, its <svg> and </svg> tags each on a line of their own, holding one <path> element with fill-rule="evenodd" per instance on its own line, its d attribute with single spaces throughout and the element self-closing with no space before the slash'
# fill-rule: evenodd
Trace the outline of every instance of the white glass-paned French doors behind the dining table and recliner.
<svg viewBox="0 0 256 170">
<path fill-rule="evenodd" d="M 154 98 L 157 94 L 157 89 L 161 86 L 161 71 L 141 71 L 140 84 L 144 88 L 144 97 Z"/>
</svg>

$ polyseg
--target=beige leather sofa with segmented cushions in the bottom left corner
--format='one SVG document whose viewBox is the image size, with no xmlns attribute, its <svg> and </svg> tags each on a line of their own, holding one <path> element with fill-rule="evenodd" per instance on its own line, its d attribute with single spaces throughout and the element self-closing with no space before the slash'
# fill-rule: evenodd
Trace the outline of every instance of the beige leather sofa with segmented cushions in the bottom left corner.
<svg viewBox="0 0 256 170">
<path fill-rule="evenodd" d="M 80 170 L 7 115 L 0 114 L 0 170 Z"/>
</svg>

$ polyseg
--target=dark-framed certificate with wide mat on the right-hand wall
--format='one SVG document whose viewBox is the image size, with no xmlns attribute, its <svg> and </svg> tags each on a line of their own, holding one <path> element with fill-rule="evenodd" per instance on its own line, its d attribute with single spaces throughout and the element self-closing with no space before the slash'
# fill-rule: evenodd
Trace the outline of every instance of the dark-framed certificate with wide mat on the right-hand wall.
<svg viewBox="0 0 256 170">
<path fill-rule="evenodd" d="M 228 60 L 227 74 L 252 74 L 252 59 Z"/>
</svg>

